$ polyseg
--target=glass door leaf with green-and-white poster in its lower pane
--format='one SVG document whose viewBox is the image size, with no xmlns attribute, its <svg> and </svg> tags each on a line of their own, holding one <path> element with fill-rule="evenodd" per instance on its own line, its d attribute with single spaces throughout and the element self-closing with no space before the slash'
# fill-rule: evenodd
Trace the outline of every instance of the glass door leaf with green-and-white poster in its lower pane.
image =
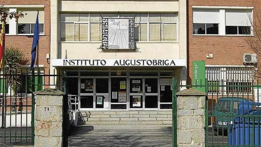
<svg viewBox="0 0 261 147">
<path fill-rule="evenodd" d="M 109 109 L 109 78 L 95 78 L 95 110 Z"/>
</svg>

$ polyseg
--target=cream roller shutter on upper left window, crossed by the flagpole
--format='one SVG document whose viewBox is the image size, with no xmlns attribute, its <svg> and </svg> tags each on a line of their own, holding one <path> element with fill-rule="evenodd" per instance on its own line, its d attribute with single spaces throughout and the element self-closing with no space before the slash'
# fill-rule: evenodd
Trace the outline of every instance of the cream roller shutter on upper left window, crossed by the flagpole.
<svg viewBox="0 0 261 147">
<path fill-rule="evenodd" d="M 24 18 L 18 18 L 18 23 L 35 23 L 37 9 L 17 9 L 18 12 L 23 12 Z M 27 13 L 27 15 L 25 15 Z M 44 10 L 39 10 L 39 23 L 44 23 Z"/>
</svg>

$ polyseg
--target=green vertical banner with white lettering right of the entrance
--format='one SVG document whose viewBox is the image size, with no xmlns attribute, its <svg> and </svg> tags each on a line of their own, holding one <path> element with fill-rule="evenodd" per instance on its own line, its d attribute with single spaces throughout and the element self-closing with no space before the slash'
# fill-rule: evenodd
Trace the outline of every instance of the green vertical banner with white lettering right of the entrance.
<svg viewBox="0 0 261 147">
<path fill-rule="evenodd" d="M 198 89 L 200 91 L 206 92 L 206 61 L 192 61 L 192 85 L 193 89 Z"/>
</svg>

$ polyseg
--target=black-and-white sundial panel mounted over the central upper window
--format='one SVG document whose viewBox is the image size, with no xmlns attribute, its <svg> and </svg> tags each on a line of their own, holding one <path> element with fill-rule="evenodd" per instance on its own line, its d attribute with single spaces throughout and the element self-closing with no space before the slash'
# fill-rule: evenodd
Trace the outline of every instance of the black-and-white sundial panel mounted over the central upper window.
<svg viewBox="0 0 261 147">
<path fill-rule="evenodd" d="M 135 49 L 134 18 L 103 18 L 102 49 Z"/>
</svg>

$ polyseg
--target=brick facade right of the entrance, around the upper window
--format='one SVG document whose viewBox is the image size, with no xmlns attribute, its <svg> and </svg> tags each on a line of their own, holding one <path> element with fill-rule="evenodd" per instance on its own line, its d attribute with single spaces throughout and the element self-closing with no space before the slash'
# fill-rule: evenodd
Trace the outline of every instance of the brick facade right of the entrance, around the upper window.
<svg viewBox="0 0 261 147">
<path fill-rule="evenodd" d="M 253 2 L 253 3 L 252 3 Z M 187 79 L 192 78 L 192 61 L 205 60 L 206 65 L 243 65 L 243 54 L 253 53 L 243 36 L 192 36 L 192 6 L 254 7 L 261 12 L 259 0 L 188 0 L 187 1 Z M 255 13 L 255 12 L 254 12 Z M 254 15 L 254 21 L 255 18 Z M 213 53 L 213 59 L 206 54 Z"/>
</svg>

